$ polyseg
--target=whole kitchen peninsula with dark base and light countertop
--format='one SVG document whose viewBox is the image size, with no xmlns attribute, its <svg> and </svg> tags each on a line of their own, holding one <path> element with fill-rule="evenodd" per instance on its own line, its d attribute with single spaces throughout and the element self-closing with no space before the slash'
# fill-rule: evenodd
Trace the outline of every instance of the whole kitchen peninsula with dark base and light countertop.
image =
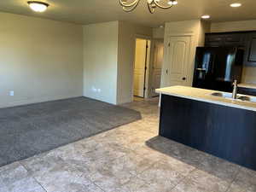
<svg viewBox="0 0 256 192">
<path fill-rule="evenodd" d="M 256 97 L 172 86 L 161 94 L 160 136 L 256 170 Z"/>
</svg>

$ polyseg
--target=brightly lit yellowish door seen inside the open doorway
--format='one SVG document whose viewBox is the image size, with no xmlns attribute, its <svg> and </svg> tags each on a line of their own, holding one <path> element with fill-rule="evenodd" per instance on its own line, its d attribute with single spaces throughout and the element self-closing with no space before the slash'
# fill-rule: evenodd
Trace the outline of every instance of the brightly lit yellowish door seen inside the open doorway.
<svg viewBox="0 0 256 192">
<path fill-rule="evenodd" d="M 145 67 L 147 54 L 147 40 L 136 39 L 133 95 L 144 97 Z"/>
</svg>

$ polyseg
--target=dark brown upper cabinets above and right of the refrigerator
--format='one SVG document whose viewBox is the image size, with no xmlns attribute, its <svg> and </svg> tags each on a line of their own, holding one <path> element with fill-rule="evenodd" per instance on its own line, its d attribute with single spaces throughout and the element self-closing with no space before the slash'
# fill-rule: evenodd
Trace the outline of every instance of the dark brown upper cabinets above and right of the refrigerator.
<svg viewBox="0 0 256 192">
<path fill-rule="evenodd" d="M 244 65 L 256 67 L 256 32 L 207 33 L 205 46 L 240 46 L 245 50 Z"/>
</svg>

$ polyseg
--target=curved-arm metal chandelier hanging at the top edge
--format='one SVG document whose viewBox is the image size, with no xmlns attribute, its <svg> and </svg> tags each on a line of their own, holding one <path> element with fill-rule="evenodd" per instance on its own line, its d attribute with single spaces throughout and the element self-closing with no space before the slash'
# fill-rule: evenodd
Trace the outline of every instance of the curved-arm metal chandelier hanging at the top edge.
<svg viewBox="0 0 256 192">
<path fill-rule="evenodd" d="M 123 10 L 125 12 L 131 12 L 134 9 L 137 8 L 138 3 L 140 3 L 141 0 L 134 0 L 131 3 L 128 3 L 129 0 L 119 0 L 120 5 L 123 7 Z M 154 13 L 155 9 L 158 7 L 160 9 L 170 9 L 173 5 L 177 5 L 176 0 L 168 0 L 168 5 L 161 5 L 161 0 L 147 0 L 148 3 L 148 10 L 151 14 Z"/>
</svg>

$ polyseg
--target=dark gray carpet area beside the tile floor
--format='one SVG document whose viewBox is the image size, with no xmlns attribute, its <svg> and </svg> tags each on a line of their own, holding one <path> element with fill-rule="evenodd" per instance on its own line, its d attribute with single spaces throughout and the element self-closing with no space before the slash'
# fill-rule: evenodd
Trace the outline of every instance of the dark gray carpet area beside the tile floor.
<svg viewBox="0 0 256 192">
<path fill-rule="evenodd" d="M 0 109 L 0 166 L 141 119 L 86 97 Z"/>
</svg>

